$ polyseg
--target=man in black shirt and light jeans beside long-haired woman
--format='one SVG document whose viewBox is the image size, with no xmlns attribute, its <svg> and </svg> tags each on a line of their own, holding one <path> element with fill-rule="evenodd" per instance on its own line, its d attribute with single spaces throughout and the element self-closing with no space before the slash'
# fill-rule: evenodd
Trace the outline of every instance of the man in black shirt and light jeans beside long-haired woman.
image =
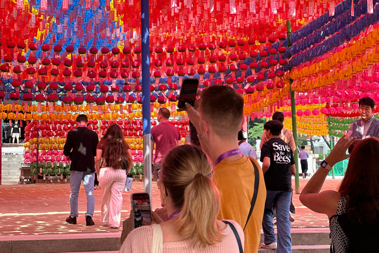
<svg viewBox="0 0 379 253">
<path fill-rule="evenodd" d="M 87 212 L 85 220 L 87 226 L 95 225 L 92 220 L 95 211 L 95 156 L 96 146 L 99 143 L 99 137 L 96 132 L 87 128 L 88 118 L 80 114 L 76 118 L 77 127 L 67 134 L 63 154 L 71 159 L 70 173 L 70 207 L 71 213 L 66 221 L 70 224 L 76 224 L 76 217 L 79 216 L 77 210 L 77 200 L 81 181 L 83 181 L 85 194 L 87 195 Z"/>
</svg>

